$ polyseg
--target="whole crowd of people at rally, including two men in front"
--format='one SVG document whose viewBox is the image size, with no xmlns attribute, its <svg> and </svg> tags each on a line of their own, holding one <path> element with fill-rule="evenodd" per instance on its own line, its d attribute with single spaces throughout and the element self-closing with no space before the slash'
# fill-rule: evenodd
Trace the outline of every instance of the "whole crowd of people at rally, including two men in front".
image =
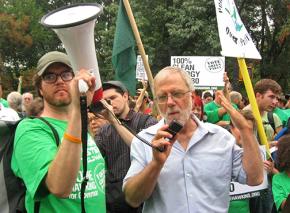
<svg viewBox="0 0 290 213">
<path fill-rule="evenodd" d="M 11 167 L 26 186 L 29 213 L 35 212 L 36 201 L 40 212 L 81 211 L 80 79 L 88 85 L 89 105 L 95 78 L 87 70 L 73 72 L 67 55 L 53 51 L 39 59 L 36 92 L 12 91 L 5 100 L 0 81 L 0 120 L 23 118 Z M 176 67 L 157 73 L 154 95 L 146 91 L 146 82 L 136 96 L 120 81 L 104 82 L 103 107 L 97 112 L 88 108 L 87 114 L 86 212 L 283 210 L 290 193 L 290 136 L 278 141 L 275 136 L 289 122 L 289 94 L 283 95 L 271 79 L 254 85 L 268 144 L 278 149 L 275 161 L 263 160 L 251 105 L 232 91 L 226 73 L 224 82 L 223 91 L 197 91 L 189 75 Z M 60 145 L 43 122 L 31 117 L 46 119 Z M 183 126 L 175 136 L 167 131 L 173 121 Z M 230 201 L 231 181 L 257 186 L 264 172 L 268 187 L 260 196 Z"/>
</svg>

